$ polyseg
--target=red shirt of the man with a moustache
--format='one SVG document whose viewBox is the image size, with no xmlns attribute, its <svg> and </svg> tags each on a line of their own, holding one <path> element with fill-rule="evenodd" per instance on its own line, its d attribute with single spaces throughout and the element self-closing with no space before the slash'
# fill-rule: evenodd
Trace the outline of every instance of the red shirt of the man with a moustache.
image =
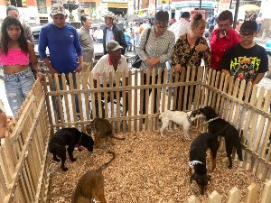
<svg viewBox="0 0 271 203">
<path fill-rule="evenodd" d="M 240 35 L 232 27 L 229 29 L 226 37 L 220 38 L 220 29 L 217 28 L 211 33 L 210 39 L 210 68 L 211 69 L 220 69 L 220 61 L 225 53 L 229 50 L 229 47 L 238 44 L 241 42 Z"/>
</svg>

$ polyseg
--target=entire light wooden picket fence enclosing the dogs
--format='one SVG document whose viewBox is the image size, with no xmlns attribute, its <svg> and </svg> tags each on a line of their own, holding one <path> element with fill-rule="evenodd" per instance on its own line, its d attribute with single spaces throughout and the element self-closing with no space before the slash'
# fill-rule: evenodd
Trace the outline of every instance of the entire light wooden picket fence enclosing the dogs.
<svg viewBox="0 0 271 203">
<path fill-rule="evenodd" d="M 116 84 L 113 84 L 113 78 L 110 76 L 108 88 L 102 88 L 107 87 L 105 75 L 104 78 L 100 77 L 102 87 L 99 85 L 98 77 L 97 88 L 93 86 L 91 74 L 76 76 L 76 85 L 79 88 L 74 88 L 71 75 L 70 88 L 64 85 L 63 90 L 60 90 L 59 78 L 56 76 L 56 90 L 53 88 L 51 76 L 47 79 L 48 84 L 45 81 L 43 83 L 36 81 L 14 119 L 12 132 L 7 135 L 5 143 L 2 143 L 0 148 L 0 201 L 46 202 L 50 184 L 47 146 L 55 129 L 68 126 L 84 129 L 84 125 L 89 124 L 91 116 L 102 115 L 104 106 L 105 116 L 116 123 L 117 132 L 154 131 L 159 125 L 159 113 L 154 113 L 154 102 L 157 103 L 160 112 L 167 109 L 180 110 L 181 106 L 176 107 L 176 103 L 182 102 L 188 103 L 189 109 L 212 106 L 220 117 L 235 125 L 239 132 L 243 129 L 244 161 L 239 166 L 256 174 L 260 180 L 266 181 L 265 189 L 260 196 L 257 185 L 252 183 L 248 187 L 245 202 L 270 202 L 271 150 L 266 153 L 266 148 L 271 133 L 269 109 L 271 90 L 266 91 L 265 88 L 258 88 L 256 85 L 250 94 L 251 84 L 246 87 L 244 81 L 239 82 L 211 69 L 204 71 L 203 68 L 189 68 L 180 76 L 171 72 L 168 83 L 163 84 L 160 78 L 162 72 L 158 72 L 159 79 L 156 84 L 153 77 L 147 80 L 148 85 L 141 85 L 143 74 L 142 71 L 133 73 L 130 71 L 128 86 L 123 83 L 120 87 L 118 81 L 120 78 L 125 81 L 125 74 L 117 73 Z M 154 72 L 146 74 L 155 75 Z M 164 70 L 164 81 L 166 76 L 167 69 Z M 60 79 L 66 84 L 64 75 Z M 143 101 L 144 89 L 147 94 L 145 101 Z M 157 89 L 156 101 L 154 94 L 148 97 L 149 89 L 152 89 L 152 92 Z M 120 92 L 127 97 L 120 98 Z M 98 112 L 95 107 L 95 94 L 98 95 Z M 177 94 L 181 97 L 176 97 Z M 79 99 L 79 117 L 75 107 L 76 95 Z M 54 102 L 56 97 L 57 103 Z M 104 104 L 101 104 L 103 97 Z M 126 99 L 128 99 L 127 114 L 126 111 L 121 111 L 121 108 L 126 109 Z M 146 109 L 149 109 L 145 115 L 140 114 L 143 102 Z M 60 119 L 57 116 L 56 105 L 60 109 Z M 195 125 L 202 131 L 206 128 L 201 120 Z M 234 185 L 232 188 L 229 191 L 229 203 L 238 202 L 240 196 L 240 191 Z M 199 202 L 195 196 L 185 200 Z M 221 202 L 220 194 L 213 191 L 209 201 Z"/>
</svg>

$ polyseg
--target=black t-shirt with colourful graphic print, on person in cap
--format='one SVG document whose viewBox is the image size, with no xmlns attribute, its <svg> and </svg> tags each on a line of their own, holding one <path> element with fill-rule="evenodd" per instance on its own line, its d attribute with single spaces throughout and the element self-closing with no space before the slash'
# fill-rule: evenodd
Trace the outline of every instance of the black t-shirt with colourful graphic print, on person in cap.
<svg viewBox="0 0 271 203">
<path fill-rule="evenodd" d="M 230 75 L 234 78 L 253 82 L 257 73 L 268 71 L 266 50 L 257 44 L 245 49 L 238 43 L 225 52 L 220 62 L 220 68 L 229 70 Z"/>
</svg>

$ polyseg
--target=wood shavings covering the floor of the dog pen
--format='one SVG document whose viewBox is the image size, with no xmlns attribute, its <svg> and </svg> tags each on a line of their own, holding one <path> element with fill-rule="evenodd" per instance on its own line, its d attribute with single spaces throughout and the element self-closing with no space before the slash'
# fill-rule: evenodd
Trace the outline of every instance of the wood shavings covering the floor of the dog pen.
<svg viewBox="0 0 271 203">
<path fill-rule="evenodd" d="M 198 135 L 196 128 L 190 128 L 192 138 Z M 182 129 L 164 130 L 164 137 L 159 131 L 117 134 L 126 137 L 125 141 L 113 140 L 111 145 L 107 140 L 101 140 L 99 149 L 89 152 L 74 151 L 77 161 L 68 158 L 68 171 L 61 171 L 61 163 L 51 161 L 51 184 L 49 203 L 70 202 L 72 190 L 79 177 L 86 171 L 98 169 L 111 159 L 107 150 L 117 153 L 116 161 L 103 171 L 105 177 L 105 195 L 107 202 L 116 203 L 168 203 L 185 202 L 191 195 L 208 200 L 208 195 L 217 190 L 222 196 L 222 202 L 227 202 L 229 190 L 233 187 L 241 189 L 244 201 L 248 186 L 255 182 L 261 193 L 264 184 L 250 172 L 238 167 L 234 161 L 231 170 L 228 169 L 226 152 L 219 152 L 217 168 L 210 173 L 211 182 L 204 196 L 200 195 L 196 183 L 190 184 L 188 175 L 189 150 L 192 141 L 184 140 Z M 52 157 L 52 155 L 50 154 Z M 51 158 L 50 158 L 51 159 Z M 210 154 L 208 154 L 210 165 Z M 259 202 L 260 199 L 258 199 Z"/>
</svg>

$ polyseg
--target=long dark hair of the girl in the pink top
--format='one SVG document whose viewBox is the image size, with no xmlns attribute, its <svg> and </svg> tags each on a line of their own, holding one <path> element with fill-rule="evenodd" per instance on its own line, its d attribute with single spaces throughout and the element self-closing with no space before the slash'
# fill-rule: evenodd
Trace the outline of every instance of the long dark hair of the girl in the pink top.
<svg viewBox="0 0 271 203">
<path fill-rule="evenodd" d="M 14 18 L 14 17 L 10 17 L 10 16 L 5 17 L 4 22 L 2 23 L 2 27 L 1 27 L 2 36 L 1 36 L 0 47 L 3 49 L 3 52 L 5 53 L 5 55 L 7 55 L 8 42 L 10 41 L 10 38 L 7 34 L 7 29 L 12 24 L 20 27 L 21 35 L 18 39 L 18 44 L 19 44 L 21 50 L 23 52 L 27 53 L 28 52 L 28 45 L 27 45 L 27 39 L 26 39 L 24 31 L 23 31 L 23 26 L 18 19 Z"/>
</svg>

